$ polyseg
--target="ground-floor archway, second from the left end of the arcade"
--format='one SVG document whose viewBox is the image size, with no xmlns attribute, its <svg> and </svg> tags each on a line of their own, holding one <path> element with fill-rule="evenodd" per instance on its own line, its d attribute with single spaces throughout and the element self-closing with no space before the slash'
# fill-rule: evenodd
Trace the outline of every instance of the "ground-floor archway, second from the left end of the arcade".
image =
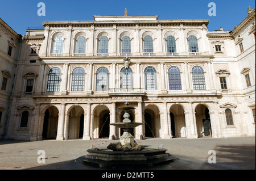
<svg viewBox="0 0 256 181">
<path fill-rule="evenodd" d="M 84 110 L 82 107 L 72 107 L 68 120 L 68 139 L 82 138 L 84 135 Z"/>
</svg>

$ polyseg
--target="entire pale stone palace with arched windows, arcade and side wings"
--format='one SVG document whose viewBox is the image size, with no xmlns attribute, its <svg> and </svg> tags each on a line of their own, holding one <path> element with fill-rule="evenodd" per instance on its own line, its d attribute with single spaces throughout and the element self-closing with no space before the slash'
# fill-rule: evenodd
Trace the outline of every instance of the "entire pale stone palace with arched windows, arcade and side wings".
<svg viewBox="0 0 256 181">
<path fill-rule="evenodd" d="M 118 139 L 109 124 L 128 102 L 131 120 L 144 123 L 137 139 L 255 136 L 255 9 L 247 11 L 232 31 L 126 13 L 43 22 L 18 41 L 2 23 L 0 134 Z"/>
</svg>

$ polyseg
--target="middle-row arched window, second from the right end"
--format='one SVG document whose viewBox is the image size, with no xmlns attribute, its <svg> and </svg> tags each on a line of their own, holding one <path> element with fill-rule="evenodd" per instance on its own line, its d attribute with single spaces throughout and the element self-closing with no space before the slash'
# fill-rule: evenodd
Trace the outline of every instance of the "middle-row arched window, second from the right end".
<svg viewBox="0 0 256 181">
<path fill-rule="evenodd" d="M 181 78 L 180 78 L 180 69 L 176 66 L 172 66 L 168 70 L 169 77 L 169 88 L 170 90 L 181 90 Z"/>
</svg>

